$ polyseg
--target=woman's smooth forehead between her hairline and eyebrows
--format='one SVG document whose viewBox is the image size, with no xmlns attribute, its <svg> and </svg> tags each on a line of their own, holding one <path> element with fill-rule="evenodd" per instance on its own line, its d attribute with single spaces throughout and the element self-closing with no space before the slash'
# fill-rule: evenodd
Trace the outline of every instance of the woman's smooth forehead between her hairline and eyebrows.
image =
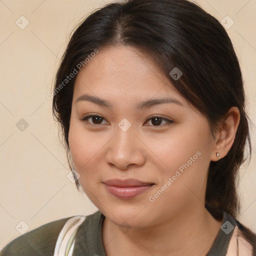
<svg viewBox="0 0 256 256">
<path fill-rule="evenodd" d="M 77 74 L 74 97 L 82 93 L 132 101 L 169 95 L 186 103 L 156 64 L 130 46 L 99 49 Z"/>
</svg>

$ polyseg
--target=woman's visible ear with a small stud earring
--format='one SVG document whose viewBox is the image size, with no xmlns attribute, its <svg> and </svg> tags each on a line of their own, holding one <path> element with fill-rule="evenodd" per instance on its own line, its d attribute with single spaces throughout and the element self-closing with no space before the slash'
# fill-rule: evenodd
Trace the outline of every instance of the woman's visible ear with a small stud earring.
<svg viewBox="0 0 256 256">
<path fill-rule="evenodd" d="M 221 158 L 226 156 L 234 142 L 239 121 L 239 109 L 236 106 L 230 107 L 224 121 L 221 122 L 218 131 L 215 133 L 214 145 L 210 157 L 211 161 L 219 160 L 219 157 L 216 155 L 217 152 Z"/>
</svg>

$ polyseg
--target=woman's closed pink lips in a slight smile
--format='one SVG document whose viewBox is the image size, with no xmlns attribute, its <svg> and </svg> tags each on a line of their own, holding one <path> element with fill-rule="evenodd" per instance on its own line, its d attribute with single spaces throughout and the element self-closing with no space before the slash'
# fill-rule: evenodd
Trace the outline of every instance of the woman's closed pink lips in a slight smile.
<svg viewBox="0 0 256 256">
<path fill-rule="evenodd" d="M 119 199 L 133 198 L 151 188 L 154 183 L 138 179 L 109 179 L 102 181 L 107 191 Z"/>
</svg>

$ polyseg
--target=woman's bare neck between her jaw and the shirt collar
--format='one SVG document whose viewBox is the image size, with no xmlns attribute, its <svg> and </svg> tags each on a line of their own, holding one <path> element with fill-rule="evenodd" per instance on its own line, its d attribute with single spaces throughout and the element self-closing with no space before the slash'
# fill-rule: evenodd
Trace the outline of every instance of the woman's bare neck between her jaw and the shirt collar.
<svg viewBox="0 0 256 256">
<path fill-rule="evenodd" d="M 132 227 L 126 233 L 104 218 L 103 244 L 107 256 L 113 255 L 200 255 L 209 251 L 221 226 L 204 208 L 180 211 L 167 221 L 147 227 Z M 124 251 L 123 248 L 129 248 Z M 150 254 L 149 253 L 149 254 Z"/>
</svg>

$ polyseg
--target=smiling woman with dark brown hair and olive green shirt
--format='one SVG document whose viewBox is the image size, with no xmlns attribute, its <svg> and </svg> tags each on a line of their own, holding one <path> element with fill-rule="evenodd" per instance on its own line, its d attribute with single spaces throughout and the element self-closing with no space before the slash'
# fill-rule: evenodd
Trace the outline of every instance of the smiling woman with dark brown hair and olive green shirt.
<svg viewBox="0 0 256 256">
<path fill-rule="evenodd" d="M 250 137 L 220 23 L 186 0 L 107 4 L 74 31 L 53 113 L 99 209 L 46 223 L 0 255 L 256 255 L 236 220 Z"/>
</svg>

